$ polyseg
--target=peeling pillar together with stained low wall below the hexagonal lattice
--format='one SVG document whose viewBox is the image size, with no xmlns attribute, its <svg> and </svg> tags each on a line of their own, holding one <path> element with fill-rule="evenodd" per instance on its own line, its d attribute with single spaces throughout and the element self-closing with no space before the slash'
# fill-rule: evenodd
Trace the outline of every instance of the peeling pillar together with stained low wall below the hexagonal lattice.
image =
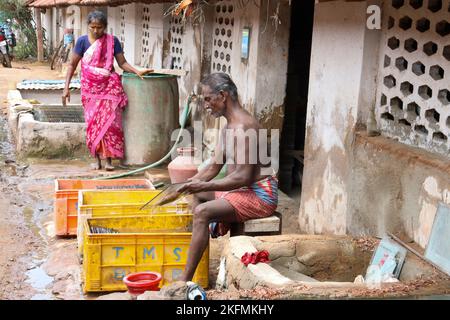
<svg viewBox="0 0 450 320">
<path fill-rule="evenodd" d="M 391 232 L 425 248 L 438 204 L 450 204 L 450 167 L 444 156 L 367 137 L 384 44 L 366 28 L 372 3 L 316 4 L 300 229 Z"/>
</svg>

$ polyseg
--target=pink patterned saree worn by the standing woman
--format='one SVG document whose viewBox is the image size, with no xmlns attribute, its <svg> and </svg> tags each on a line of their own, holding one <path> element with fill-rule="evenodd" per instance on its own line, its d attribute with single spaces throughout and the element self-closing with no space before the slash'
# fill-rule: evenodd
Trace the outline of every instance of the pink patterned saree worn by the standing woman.
<svg viewBox="0 0 450 320">
<path fill-rule="evenodd" d="M 128 103 L 120 76 L 113 71 L 114 37 L 97 39 L 81 59 L 81 101 L 86 144 L 101 158 L 123 158 L 122 111 Z"/>
</svg>

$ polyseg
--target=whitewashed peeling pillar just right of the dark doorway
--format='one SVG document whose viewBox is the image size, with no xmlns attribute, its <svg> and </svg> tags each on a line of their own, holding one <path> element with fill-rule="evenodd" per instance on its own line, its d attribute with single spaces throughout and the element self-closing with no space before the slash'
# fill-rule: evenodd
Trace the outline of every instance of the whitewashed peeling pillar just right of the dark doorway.
<svg viewBox="0 0 450 320">
<path fill-rule="evenodd" d="M 367 108 L 359 104 L 366 69 L 366 7 L 365 2 L 315 7 L 299 214 L 303 232 L 346 234 L 349 228 L 349 154 L 358 109 Z"/>
</svg>

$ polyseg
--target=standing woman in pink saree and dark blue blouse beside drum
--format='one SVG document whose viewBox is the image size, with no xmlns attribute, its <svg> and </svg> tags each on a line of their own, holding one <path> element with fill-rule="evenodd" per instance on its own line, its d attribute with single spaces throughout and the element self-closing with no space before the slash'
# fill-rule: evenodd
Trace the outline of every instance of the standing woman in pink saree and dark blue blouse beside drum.
<svg viewBox="0 0 450 320">
<path fill-rule="evenodd" d="M 101 11 L 88 16 L 89 34 L 78 38 L 67 70 L 63 105 L 70 101 L 69 84 L 81 60 L 81 102 L 86 122 L 86 145 L 97 159 L 96 169 L 101 169 L 101 159 L 106 159 L 105 169 L 114 167 L 112 159 L 124 155 L 122 111 L 127 105 L 120 75 L 114 71 L 114 57 L 121 69 L 139 77 L 152 70 L 136 70 L 126 61 L 119 40 L 105 33 L 107 20 Z"/>
</svg>

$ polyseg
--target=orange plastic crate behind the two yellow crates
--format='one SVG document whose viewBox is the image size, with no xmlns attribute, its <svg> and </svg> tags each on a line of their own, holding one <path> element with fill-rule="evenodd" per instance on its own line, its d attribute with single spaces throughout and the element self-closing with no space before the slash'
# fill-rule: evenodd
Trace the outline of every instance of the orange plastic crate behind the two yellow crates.
<svg viewBox="0 0 450 320">
<path fill-rule="evenodd" d="M 153 184 L 147 179 L 55 180 L 55 234 L 58 236 L 71 236 L 77 234 L 79 190 L 154 189 Z"/>
</svg>

